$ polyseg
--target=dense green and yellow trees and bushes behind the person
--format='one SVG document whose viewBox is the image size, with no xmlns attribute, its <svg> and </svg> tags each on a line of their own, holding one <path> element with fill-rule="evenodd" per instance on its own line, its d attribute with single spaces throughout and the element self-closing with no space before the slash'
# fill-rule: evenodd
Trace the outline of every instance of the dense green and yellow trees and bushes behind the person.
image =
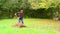
<svg viewBox="0 0 60 34">
<path fill-rule="evenodd" d="M 0 0 L 0 18 L 13 18 L 20 9 L 28 18 L 60 18 L 60 0 Z"/>
</svg>

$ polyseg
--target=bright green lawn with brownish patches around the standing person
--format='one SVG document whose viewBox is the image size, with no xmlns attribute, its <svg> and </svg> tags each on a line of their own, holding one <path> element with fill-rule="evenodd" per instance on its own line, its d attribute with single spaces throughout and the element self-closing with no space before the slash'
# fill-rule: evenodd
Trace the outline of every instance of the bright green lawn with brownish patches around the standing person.
<svg viewBox="0 0 60 34">
<path fill-rule="evenodd" d="M 13 27 L 17 19 L 0 20 L 0 34 L 60 34 L 60 21 L 24 19 L 25 28 Z"/>
</svg>

